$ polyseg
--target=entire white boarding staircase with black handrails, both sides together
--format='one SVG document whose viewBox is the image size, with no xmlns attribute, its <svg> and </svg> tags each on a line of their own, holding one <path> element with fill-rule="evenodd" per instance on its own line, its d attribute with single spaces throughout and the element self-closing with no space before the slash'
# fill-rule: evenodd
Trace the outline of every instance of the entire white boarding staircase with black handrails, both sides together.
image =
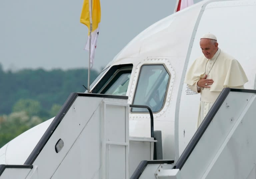
<svg viewBox="0 0 256 179">
<path fill-rule="evenodd" d="M 72 93 L 24 164 L 0 165 L 0 179 L 255 179 L 255 98 L 223 89 L 174 161 L 157 160 L 153 124 L 149 137 L 129 136 L 126 96 Z"/>
</svg>

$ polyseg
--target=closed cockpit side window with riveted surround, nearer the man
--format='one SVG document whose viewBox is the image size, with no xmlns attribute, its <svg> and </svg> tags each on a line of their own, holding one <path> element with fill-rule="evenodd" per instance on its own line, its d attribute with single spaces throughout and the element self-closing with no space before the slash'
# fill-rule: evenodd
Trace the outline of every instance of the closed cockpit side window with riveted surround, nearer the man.
<svg viewBox="0 0 256 179">
<path fill-rule="evenodd" d="M 164 104 L 169 78 L 164 65 L 143 65 L 133 104 L 147 105 L 152 112 L 158 112 Z M 147 109 L 132 108 L 132 112 L 147 112 Z"/>
</svg>

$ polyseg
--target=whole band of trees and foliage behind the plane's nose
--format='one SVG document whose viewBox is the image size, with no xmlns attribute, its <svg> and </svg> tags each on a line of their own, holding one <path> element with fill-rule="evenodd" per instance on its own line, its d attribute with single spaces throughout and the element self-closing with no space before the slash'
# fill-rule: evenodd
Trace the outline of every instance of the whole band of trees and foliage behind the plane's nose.
<svg viewBox="0 0 256 179">
<path fill-rule="evenodd" d="M 90 84 L 98 75 L 90 71 Z M 72 92 L 84 92 L 88 69 L 22 69 L 0 65 L 0 147 L 58 113 Z"/>
</svg>

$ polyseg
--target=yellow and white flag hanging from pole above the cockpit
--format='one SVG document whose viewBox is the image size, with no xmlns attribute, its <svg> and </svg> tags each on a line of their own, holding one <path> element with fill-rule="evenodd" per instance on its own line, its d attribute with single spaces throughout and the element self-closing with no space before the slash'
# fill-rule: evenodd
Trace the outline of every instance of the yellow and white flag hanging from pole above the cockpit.
<svg viewBox="0 0 256 179">
<path fill-rule="evenodd" d="M 91 6 L 92 3 L 92 6 Z M 86 50 L 89 51 L 89 36 L 90 36 L 90 23 L 92 23 L 91 32 L 91 67 L 95 55 L 97 39 L 100 27 L 100 0 L 84 0 L 80 22 L 88 27 L 88 40 L 85 45 Z"/>
</svg>

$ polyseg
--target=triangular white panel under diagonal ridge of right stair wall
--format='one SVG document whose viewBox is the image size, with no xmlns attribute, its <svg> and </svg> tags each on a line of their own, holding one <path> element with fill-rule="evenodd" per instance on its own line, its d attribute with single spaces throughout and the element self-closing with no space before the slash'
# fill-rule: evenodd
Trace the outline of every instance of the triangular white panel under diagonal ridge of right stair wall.
<svg viewBox="0 0 256 179">
<path fill-rule="evenodd" d="M 255 178 L 256 161 L 256 96 L 230 130 L 203 177 L 206 178 Z"/>
</svg>

